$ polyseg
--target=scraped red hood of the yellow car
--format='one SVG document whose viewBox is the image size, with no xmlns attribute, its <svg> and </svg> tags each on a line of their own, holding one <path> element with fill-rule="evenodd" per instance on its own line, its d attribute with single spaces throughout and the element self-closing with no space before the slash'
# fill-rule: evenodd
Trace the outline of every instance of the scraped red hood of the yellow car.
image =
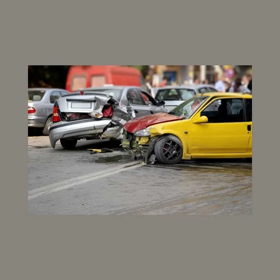
<svg viewBox="0 0 280 280">
<path fill-rule="evenodd" d="M 124 130 L 135 133 L 138 130 L 145 129 L 154 124 L 161 124 L 183 119 L 182 117 L 173 116 L 166 113 L 157 113 L 129 120 L 124 124 Z"/>
</svg>

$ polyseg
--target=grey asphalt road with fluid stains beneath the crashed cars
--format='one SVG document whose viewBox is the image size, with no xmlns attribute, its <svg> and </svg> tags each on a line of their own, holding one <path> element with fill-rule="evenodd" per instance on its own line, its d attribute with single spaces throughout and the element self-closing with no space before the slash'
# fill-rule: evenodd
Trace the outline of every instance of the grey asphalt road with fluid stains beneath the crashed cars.
<svg viewBox="0 0 280 280">
<path fill-rule="evenodd" d="M 90 154 L 89 148 L 113 152 Z M 107 140 L 65 151 L 28 138 L 30 214 L 251 214 L 252 164 L 182 161 L 144 165 Z"/>
</svg>

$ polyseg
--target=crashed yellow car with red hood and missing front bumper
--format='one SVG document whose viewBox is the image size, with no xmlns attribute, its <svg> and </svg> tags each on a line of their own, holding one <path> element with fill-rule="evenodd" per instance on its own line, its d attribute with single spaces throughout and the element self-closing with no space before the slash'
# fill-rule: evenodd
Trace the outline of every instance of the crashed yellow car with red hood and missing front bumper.
<svg viewBox="0 0 280 280">
<path fill-rule="evenodd" d="M 198 158 L 252 159 L 252 94 L 204 93 L 124 124 L 123 147 L 147 164 Z"/>
</svg>

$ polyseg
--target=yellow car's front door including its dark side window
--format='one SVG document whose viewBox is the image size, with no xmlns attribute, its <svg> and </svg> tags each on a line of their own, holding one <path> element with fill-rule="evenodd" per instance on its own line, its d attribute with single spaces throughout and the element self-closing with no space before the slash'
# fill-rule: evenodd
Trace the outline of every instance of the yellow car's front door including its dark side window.
<svg viewBox="0 0 280 280">
<path fill-rule="evenodd" d="M 247 152 L 250 131 L 244 109 L 243 99 L 223 97 L 198 111 L 190 120 L 188 152 L 192 156 Z"/>
</svg>

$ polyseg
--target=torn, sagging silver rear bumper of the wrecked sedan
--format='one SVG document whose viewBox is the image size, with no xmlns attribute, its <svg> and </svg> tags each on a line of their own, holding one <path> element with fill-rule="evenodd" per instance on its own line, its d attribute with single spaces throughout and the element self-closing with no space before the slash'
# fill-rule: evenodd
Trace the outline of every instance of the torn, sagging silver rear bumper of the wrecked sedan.
<svg viewBox="0 0 280 280">
<path fill-rule="evenodd" d="M 112 119 L 82 119 L 52 124 L 49 129 L 49 140 L 54 148 L 58 140 L 67 139 L 122 139 L 121 124 Z"/>
</svg>

